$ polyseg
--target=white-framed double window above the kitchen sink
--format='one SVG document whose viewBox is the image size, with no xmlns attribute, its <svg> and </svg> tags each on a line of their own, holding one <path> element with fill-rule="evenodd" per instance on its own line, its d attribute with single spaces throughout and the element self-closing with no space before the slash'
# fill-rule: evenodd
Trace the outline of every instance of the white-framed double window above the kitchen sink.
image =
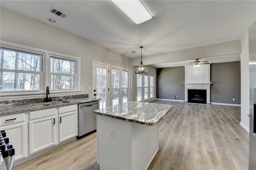
<svg viewBox="0 0 256 170">
<path fill-rule="evenodd" d="M 78 94 L 80 58 L 1 41 L 1 99 Z"/>
</svg>

